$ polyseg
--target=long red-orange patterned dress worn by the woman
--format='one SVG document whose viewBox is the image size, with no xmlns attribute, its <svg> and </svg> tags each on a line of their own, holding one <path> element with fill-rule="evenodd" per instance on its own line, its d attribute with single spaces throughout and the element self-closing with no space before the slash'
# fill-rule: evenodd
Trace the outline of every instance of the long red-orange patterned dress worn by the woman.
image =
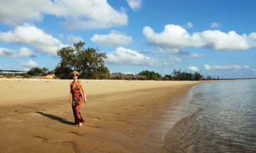
<svg viewBox="0 0 256 153">
<path fill-rule="evenodd" d="M 82 119 L 82 115 L 80 113 L 80 107 L 82 106 L 82 93 L 81 93 L 81 85 L 80 81 L 73 81 L 70 84 L 71 94 L 72 94 L 72 109 L 75 118 L 75 123 L 84 123 L 85 120 Z"/>
</svg>

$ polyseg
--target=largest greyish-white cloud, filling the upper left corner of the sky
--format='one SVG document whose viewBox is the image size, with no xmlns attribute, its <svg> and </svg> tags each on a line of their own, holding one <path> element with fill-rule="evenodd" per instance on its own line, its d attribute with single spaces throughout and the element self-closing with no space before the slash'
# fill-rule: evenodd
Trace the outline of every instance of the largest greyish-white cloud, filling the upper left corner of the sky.
<svg viewBox="0 0 256 153">
<path fill-rule="evenodd" d="M 71 29 L 110 28 L 128 22 L 127 14 L 116 11 L 107 0 L 1 0 L 1 23 L 41 21 L 44 15 L 64 18 L 63 25 Z"/>
</svg>

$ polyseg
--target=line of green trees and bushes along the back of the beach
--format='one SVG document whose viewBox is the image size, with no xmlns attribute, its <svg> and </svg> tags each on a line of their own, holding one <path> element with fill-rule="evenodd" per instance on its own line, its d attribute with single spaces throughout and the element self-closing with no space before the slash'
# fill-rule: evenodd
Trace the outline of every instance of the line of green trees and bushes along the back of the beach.
<svg viewBox="0 0 256 153">
<path fill-rule="evenodd" d="M 69 73 L 73 70 L 80 72 L 81 79 L 110 79 L 110 71 L 105 67 L 104 60 L 107 58 L 105 53 L 99 52 L 97 48 L 84 48 L 85 42 L 77 42 L 73 46 L 62 47 L 57 50 L 60 57 L 60 63 L 51 72 L 45 67 L 32 68 L 26 73 L 27 76 L 42 76 L 46 74 L 55 74 L 59 79 L 70 79 Z M 212 77 L 204 78 L 199 72 L 182 72 L 176 70 L 172 74 L 166 74 L 164 77 L 154 71 L 144 70 L 139 72 L 146 80 L 174 80 L 174 81 L 197 81 L 203 79 L 213 79 Z"/>
</svg>

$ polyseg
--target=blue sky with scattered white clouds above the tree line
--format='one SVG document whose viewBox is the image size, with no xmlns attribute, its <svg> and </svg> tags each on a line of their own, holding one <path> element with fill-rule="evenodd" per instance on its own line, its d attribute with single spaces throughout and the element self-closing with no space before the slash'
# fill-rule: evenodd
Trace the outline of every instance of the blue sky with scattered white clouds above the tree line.
<svg viewBox="0 0 256 153">
<path fill-rule="evenodd" d="M 53 70 L 82 40 L 110 72 L 256 77 L 256 1 L 1 0 L 0 69 Z"/>
</svg>

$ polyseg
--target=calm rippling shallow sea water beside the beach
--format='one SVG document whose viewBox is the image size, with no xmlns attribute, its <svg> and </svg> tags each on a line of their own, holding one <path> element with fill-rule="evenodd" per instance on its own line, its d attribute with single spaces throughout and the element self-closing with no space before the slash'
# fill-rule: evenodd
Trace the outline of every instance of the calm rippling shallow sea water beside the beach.
<svg viewBox="0 0 256 153">
<path fill-rule="evenodd" d="M 256 152 L 255 79 L 194 86 L 176 112 L 160 152 Z"/>
</svg>

